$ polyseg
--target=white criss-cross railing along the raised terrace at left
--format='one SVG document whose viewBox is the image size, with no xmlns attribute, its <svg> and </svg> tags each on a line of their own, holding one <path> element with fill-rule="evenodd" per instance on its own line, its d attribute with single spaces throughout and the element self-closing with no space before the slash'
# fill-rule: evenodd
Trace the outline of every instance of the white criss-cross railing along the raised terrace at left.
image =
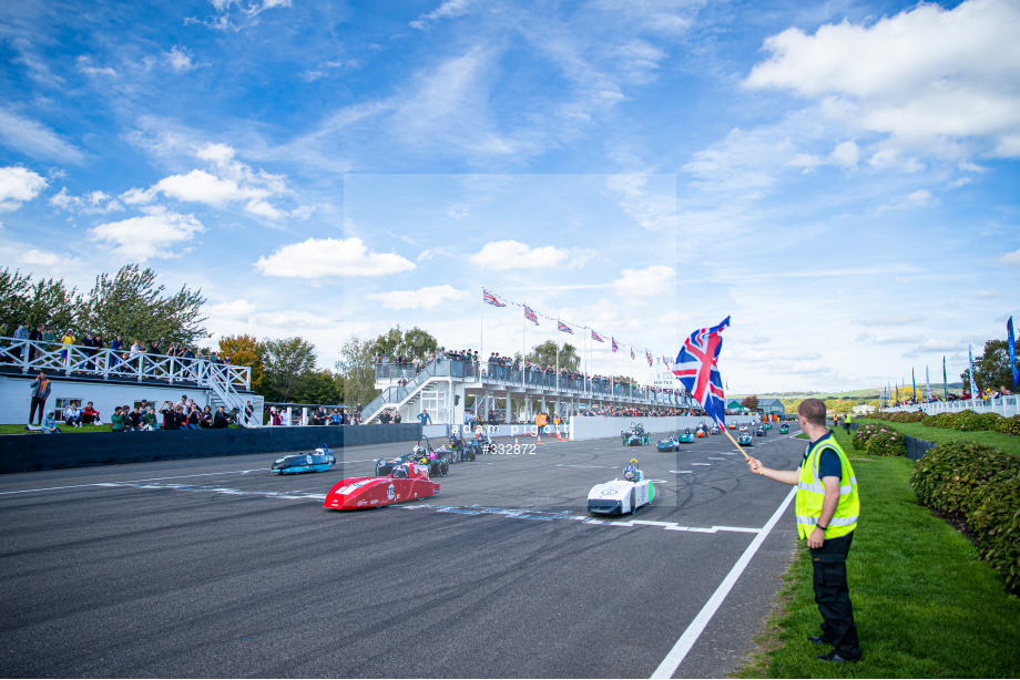
<svg viewBox="0 0 1020 680">
<path fill-rule="evenodd" d="M 0 369 L 18 370 L 24 375 L 47 371 L 101 380 L 192 383 L 213 388 L 214 392 L 218 388 L 234 401 L 241 399 L 237 390 L 252 389 L 252 369 L 246 365 L 16 338 L 0 338 Z M 233 405 L 232 401 L 220 398 Z M 243 413 L 244 403 L 238 408 Z"/>
</svg>

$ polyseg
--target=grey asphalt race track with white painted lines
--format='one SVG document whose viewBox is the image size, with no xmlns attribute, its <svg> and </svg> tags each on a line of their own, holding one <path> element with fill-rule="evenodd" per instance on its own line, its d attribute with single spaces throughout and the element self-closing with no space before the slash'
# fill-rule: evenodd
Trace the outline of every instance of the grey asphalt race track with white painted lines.
<svg viewBox="0 0 1020 680">
<path fill-rule="evenodd" d="M 0 673 L 724 677 L 792 558 L 792 504 L 762 530 L 792 487 L 725 436 L 679 453 L 654 439 L 543 440 L 453 465 L 434 498 L 357 513 L 323 509 L 326 491 L 407 444 L 304 475 L 259 454 L 0 476 Z M 795 467 L 805 442 L 754 444 Z M 589 488 L 632 456 L 654 502 L 595 521 Z"/>
</svg>

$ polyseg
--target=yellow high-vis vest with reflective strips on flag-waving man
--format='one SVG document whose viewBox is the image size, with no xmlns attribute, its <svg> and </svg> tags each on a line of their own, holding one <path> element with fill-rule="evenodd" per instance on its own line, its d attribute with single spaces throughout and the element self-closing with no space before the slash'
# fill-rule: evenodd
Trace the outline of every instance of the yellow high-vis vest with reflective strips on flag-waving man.
<svg viewBox="0 0 1020 680">
<path fill-rule="evenodd" d="M 843 476 L 839 481 L 839 505 L 836 506 L 836 514 L 833 515 L 832 521 L 828 523 L 825 537 L 839 538 L 857 528 L 857 518 L 860 516 L 857 477 L 854 476 L 854 468 L 850 467 L 846 453 L 829 436 L 828 441 L 815 446 L 807 460 L 800 465 L 797 499 L 794 504 L 797 513 L 797 534 L 800 538 L 807 538 L 810 535 L 815 529 L 815 525 L 818 524 L 818 516 L 822 514 L 825 486 L 822 485 L 822 480 L 818 477 L 818 460 L 826 449 L 832 449 L 839 456 Z"/>
</svg>

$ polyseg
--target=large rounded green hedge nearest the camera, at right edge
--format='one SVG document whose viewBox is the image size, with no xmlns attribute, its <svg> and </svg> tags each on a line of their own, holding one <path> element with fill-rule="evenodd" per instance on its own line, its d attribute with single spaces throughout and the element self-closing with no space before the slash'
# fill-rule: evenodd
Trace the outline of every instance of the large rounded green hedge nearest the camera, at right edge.
<svg viewBox="0 0 1020 680">
<path fill-rule="evenodd" d="M 978 550 L 1020 594 L 1020 457 L 976 442 L 946 442 L 914 465 L 918 503 L 967 522 Z"/>
</svg>

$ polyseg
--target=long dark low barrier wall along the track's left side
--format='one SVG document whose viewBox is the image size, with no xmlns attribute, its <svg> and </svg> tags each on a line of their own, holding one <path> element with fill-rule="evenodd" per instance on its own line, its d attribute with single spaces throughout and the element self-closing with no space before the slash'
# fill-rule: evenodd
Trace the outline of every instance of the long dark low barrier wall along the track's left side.
<svg viewBox="0 0 1020 680">
<path fill-rule="evenodd" d="M 83 467 L 312 451 L 392 442 L 414 442 L 421 425 L 361 425 L 356 427 L 257 427 L 252 430 L 176 430 L 173 432 L 62 432 L 0 436 L 0 474 Z"/>
</svg>

